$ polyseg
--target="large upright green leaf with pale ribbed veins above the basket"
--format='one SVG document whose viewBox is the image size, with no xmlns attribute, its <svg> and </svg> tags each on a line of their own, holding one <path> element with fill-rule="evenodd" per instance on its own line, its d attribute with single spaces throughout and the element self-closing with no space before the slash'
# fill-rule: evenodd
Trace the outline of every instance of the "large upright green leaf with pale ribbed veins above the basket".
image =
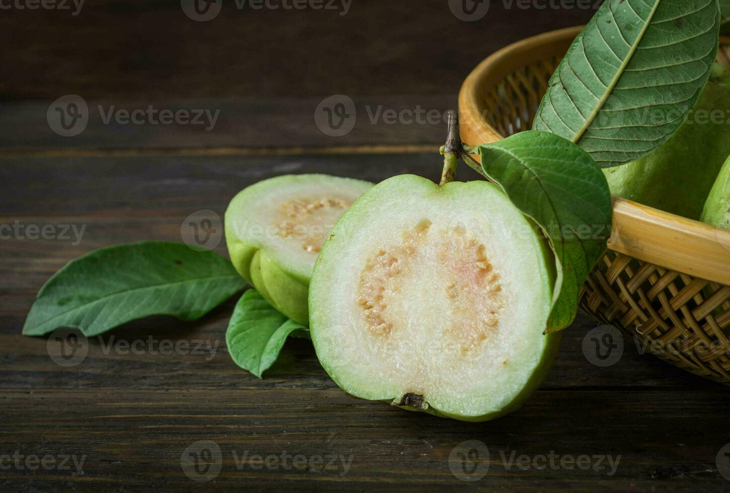
<svg viewBox="0 0 730 493">
<path fill-rule="evenodd" d="M 548 83 L 533 130 L 618 166 L 683 123 L 718 50 L 718 0 L 607 0 Z"/>
</svg>

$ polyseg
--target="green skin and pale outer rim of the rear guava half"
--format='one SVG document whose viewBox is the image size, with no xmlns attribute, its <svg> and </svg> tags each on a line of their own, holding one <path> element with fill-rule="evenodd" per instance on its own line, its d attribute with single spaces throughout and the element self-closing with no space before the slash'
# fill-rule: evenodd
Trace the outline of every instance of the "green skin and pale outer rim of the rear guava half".
<svg viewBox="0 0 730 493">
<path fill-rule="evenodd" d="M 355 197 L 372 187 L 372 183 L 363 180 L 323 174 L 276 176 L 239 192 L 226 210 L 226 244 L 236 271 L 277 311 L 304 326 L 309 325 L 307 298 L 314 258 L 310 263 L 287 262 L 285 253 L 272 252 L 263 241 L 246 238 L 239 228 L 249 221 L 257 223 L 249 216 L 249 211 L 261 196 L 282 195 L 285 199 L 288 187 L 293 185 L 311 186 L 312 193 L 316 195 L 322 183 L 342 187 L 354 193 Z"/>
</svg>

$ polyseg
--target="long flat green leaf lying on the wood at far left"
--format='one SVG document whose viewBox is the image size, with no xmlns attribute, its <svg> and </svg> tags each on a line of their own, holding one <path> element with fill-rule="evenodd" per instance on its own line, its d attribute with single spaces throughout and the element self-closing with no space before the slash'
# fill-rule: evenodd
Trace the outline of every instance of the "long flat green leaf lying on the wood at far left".
<svg viewBox="0 0 730 493">
<path fill-rule="evenodd" d="M 194 320 L 245 286 L 226 258 L 182 243 L 142 241 L 102 248 L 72 260 L 48 279 L 23 334 L 77 327 L 88 337 L 150 315 Z"/>
</svg>

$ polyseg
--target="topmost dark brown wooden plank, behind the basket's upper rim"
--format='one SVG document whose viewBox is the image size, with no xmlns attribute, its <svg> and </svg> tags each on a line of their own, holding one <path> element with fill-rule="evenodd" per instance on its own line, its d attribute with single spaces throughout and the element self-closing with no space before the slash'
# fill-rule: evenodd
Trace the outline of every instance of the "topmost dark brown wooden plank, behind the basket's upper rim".
<svg viewBox="0 0 730 493">
<path fill-rule="evenodd" d="M 493 2 L 484 18 L 464 22 L 447 1 L 354 1 L 342 12 L 223 2 L 217 18 L 195 22 L 180 1 L 99 0 L 75 16 L 4 9 L 0 99 L 456 95 L 486 55 L 595 11 Z"/>
</svg>

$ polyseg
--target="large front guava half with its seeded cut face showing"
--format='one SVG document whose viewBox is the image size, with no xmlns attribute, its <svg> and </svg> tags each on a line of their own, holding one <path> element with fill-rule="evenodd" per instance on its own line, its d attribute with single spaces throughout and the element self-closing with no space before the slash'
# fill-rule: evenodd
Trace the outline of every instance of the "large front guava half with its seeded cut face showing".
<svg viewBox="0 0 730 493">
<path fill-rule="evenodd" d="M 488 182 L 414 175 L 375 185 L 315 264 L 310 334 L 356 397 L 465 421 L 519 407 L 560 340 L 545 335 L 553 257 Z"/>
</svg>

